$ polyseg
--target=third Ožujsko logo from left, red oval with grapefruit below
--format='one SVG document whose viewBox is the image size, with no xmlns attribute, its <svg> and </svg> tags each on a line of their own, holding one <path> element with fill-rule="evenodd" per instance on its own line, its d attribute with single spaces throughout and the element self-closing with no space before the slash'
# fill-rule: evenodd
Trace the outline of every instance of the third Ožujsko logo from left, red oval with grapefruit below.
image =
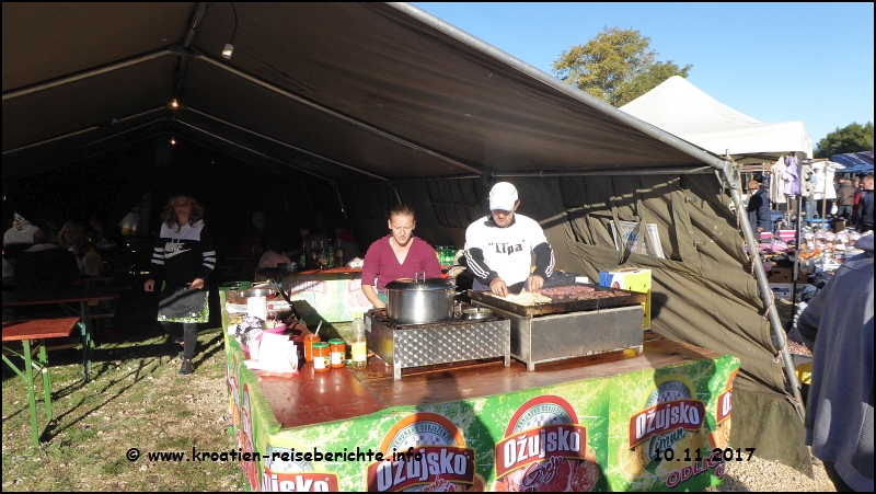
<svg viewBox="0 0 876 494">
<path fill-rule="evenodd" d="M 599 479 L 587 428 L 560 397 L 523 403 L 505 436 L 496 445 L 496 491 L 591 491 Z"/>
</svg>

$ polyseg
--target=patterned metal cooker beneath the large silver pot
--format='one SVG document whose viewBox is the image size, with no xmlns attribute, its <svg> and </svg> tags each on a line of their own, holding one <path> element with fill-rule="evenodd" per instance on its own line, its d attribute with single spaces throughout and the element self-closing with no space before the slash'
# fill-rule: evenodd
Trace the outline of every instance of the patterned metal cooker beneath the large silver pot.
<svg viewBox="0 0 876 494">
<path fill-rule="evenodd" d="M 366 313 L 368 348 L 392 366 L 393 378 L 402 369 L 504 357 L 511 365 L 510 321 L 493 315 L 476 321 L 453 320 L 428 324 L 397 324 L 385 309 Z"/>
</svg>

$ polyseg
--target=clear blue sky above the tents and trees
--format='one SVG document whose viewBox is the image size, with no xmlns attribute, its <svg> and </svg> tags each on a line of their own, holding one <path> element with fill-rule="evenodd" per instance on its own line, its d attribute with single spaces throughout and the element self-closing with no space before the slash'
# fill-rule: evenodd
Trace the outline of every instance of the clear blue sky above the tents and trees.
<svg viewBox="0 0 876 494">
<path fill-rule="evenodd" d="M 414 3 L 544 70 L 603 27 L 635 28 L 658 60 L 761 122 L 803 120 L 815 146 L 873 122 L 873 3 Z"/>
</svg>

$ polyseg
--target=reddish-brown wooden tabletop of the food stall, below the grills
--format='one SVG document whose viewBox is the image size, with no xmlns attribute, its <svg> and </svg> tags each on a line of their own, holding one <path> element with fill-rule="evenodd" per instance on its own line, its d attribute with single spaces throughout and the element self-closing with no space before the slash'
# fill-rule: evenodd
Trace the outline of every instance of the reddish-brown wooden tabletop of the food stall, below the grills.
<svg viewBox="0 0 876 494">
<path fill-rule="evenodd" d="M 569 358 L 539 364 L 533 372 L 515 359 L 505 367 L 498 358 L 404 369 L 400 381 L 393 380 L 392 367 L 379 357 L 370 357 L 364 369 L 348 367 L 318 374 L 307 364 L 295 378 L 260 378 L 260 384 L 277 421 L 287 428 L 351 418 L 390 406 L 505 394 L 721 355 L 680 342 L 656 340 L 645 342 L 639 355 L 611 352 Z"/>
</svg>

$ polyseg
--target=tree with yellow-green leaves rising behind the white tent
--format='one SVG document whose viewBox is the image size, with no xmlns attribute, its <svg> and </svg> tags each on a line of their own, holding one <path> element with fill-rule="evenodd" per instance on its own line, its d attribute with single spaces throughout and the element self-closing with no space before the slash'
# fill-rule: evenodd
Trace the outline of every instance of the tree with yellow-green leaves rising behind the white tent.
<svg viewBox="0 0 876 494">
<path fill-rule="evenodd" d="M 573 46 L 554 60 L 557 78 L 600 100 L 622 106 L 672 76 L 688 77 L 691 65 L 657 61 L 650 38 L 636 30 L 603 27 L 586 45 Z"/>
</svg>

